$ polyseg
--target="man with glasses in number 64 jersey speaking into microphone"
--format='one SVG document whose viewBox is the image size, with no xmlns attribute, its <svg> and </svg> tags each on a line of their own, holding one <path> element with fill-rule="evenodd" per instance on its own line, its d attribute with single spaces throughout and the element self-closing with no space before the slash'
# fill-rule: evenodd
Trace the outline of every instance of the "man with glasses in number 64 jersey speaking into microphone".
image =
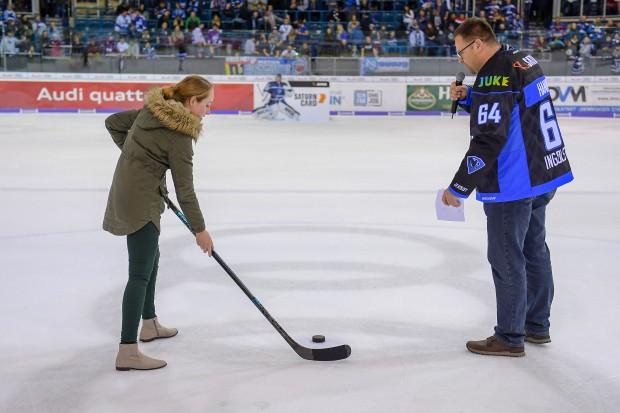
<svg viewBox="0 0 620 413">
<path fill-rule="evenodd" d="M 475 189 L 484 203 L 497 304 L 495 333 L 467 342 L 467 349 L 523 356 L 524 341 L 551 341 L 545 209 L 573 175 L 538 62 L 498 43 L 488 23 L 477 18 L 458 27 L 455 43 L 461 63 L 477 77 L 471 86 L 450 86 L 450 97 L 471 114 L 471 140 L 442 200 L 458 206 Z"/>
</svg>

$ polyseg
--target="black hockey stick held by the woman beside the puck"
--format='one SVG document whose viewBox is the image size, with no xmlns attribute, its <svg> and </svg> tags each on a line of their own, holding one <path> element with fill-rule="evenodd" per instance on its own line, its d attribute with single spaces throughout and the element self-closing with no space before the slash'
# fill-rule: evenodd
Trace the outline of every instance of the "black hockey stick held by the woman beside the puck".
<svg viewBox="0 0 620 413">
<path fill-rule="evenodd" d="M 187 229 L 189 229 L 192 234 L 195 234 L 194 230 L 189 225 L 189 222 L 187 222 L 185 215 L 183 215 L 179 208 L 174 205 L 170 198 L 164 196 L 164 200 L 166 201 L 168 208 L 170 208 L 176 214 L 176 216 L 179 217 L 179 219 L 181 220 L 181 222 L 183 222 L 183 224 L 185 224 Z M 297 353 L 299 357 L 305 360 L 335 361 L 346 359 L 351 355 L 351 347 L 346 344 L 329 348 L 308 348 L 297 343 L 291 338 L 291 336 L 286 333 L 286 331 L 284 331 L 280 324 L 278 324 L 278 322 L 274 320 L 271 314 L 269 314 L 269 312 L 265 309 L 265 307 L 263 307 L 260 301 L 258 301 L 258 299 L 254 297 L 250 290 L 245 286 L 245 284 L 243 284 L 243 282 L 241 282 L 241 280 L 235 275 L 233 270 L 230 269 L 230 267 L 224 262 L 224 260 L 218 255 L 218 253 L 215 252 L 215 250 L 211 250 L 211 254 L 213 255 L 213 258 L 215 258 L 215 261 L 220 264 L 220 266 L 224 269 L 224 271 L 226 271 L 230 278 L 233 279 L 235 284 L 237 284 L 239 288 L 241 288 L 241 290 L 245 293 L 245 295 L 247 295 L 250 301 L 254 303 L 256 308 L 260 310 L 260 312 L 271 323 L 271 325 L 276 329 L 276 331 L 280 333 L 282 338 L 284 338 L 284 340 L 286 340 L 289 346 L 291 346 L 293 350 L 295 350 L 295 353 Z"/>
</svg>

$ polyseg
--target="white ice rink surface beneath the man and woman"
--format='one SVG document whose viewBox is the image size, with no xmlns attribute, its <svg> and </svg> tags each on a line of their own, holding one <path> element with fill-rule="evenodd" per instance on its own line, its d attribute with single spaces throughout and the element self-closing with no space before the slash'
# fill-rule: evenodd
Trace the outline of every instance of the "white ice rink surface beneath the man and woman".
<svg viewBox="0 0 620 413">
<path fill-rule="evenodd" d="M 179 335 L 140 344 L 166 368 L 118 372 L 105 116 L 0 116 L 0 411 L 620 411 L 620 120 L 560 119 L 575 181 L 547 210 L 553 342 L 505 358 L 465 349 L 495 325 L 482 205 L 435 217 L 466 117 L 206 118 L 194 173 L 216 250 L 300 344 L 351 357 L 298 357 L 167 211 L 156 304 Z"/>
</svg>

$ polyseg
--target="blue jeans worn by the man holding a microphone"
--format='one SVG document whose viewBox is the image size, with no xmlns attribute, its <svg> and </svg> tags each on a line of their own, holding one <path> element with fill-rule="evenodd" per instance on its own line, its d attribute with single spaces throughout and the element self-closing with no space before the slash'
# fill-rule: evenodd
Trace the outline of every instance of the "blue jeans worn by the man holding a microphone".
<svg viewBox="0 0 620 413">
<path fill-rule="evenodd" d="M 554 195 L 555 190 L 484 204 L 497 301 L 495 337 L 510 345 L 523 345 L 526 331 L 549 333 L 553 273 L 545 242 L 545 209 Z"/>
</svg>

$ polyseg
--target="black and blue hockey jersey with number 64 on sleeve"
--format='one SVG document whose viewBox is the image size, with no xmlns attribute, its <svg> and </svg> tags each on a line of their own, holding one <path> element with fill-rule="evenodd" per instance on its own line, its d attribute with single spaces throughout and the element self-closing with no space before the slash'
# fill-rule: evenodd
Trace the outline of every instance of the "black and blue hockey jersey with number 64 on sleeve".
<svg viewBox="0 0 620 413">
<path fill-rule="evenodd" d="M 482 67 L 460 106 L 471 114 L 469 149 L 450 184 L 461 198 L 507 202 L 573 180 L 549 86 L 532 56 L 507 45 Z"/>
</svg>

